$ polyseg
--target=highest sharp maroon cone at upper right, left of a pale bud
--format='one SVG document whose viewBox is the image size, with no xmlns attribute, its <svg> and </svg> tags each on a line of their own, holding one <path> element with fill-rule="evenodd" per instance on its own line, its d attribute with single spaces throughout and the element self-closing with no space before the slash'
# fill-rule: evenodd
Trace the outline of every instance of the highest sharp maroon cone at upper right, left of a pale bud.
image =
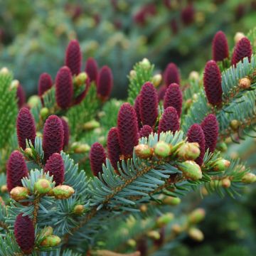
<svg viewBox="0 0 256 256">
<path fill-rule="evenodd" d="M 213 60 L 222 61 L 228 58 L 228 40 L 223 31 L 215 33 L 212 44 Z"/>
</svg>

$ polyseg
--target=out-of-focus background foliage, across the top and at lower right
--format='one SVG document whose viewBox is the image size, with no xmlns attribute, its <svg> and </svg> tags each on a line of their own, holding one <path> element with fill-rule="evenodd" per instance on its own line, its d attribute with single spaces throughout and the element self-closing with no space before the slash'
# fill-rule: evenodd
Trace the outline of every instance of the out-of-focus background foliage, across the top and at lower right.
<svg viewBox="0 0 256 256">
<path fill-rule="evenodd" d="M 27 97 L 37 93 L 43 72 L 53 78 L 64 63 L 70 39 L 78 38 L 84 60 L 94 57 L 114 74 L 112 97 L 127 95 L 129 70 L 149 58 L 161 72 L 169 62 L 186 80 L 211 58 L 211 41 L 222 30 L 234 46 L 235 33 L 256 26 L 256 1 L 249 0 L 0 0 L 0 66 L 13 70 Z M 230 146 L 229 154 L 256 168 L 255 139 Z M 185 240 L 173 255 L 254 255 L 256 188 L 243 196 L 208 196 L 201 225 L 205 240 Z"/>
</svg>

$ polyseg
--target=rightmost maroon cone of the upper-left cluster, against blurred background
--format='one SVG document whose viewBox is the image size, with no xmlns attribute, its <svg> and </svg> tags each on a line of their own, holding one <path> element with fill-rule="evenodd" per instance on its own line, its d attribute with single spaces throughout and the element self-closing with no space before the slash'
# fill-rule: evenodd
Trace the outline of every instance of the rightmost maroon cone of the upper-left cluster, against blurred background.
<svg viewBox="0 0 256 256">
<path fill-rule="evenodd" d="M 97 75 L 97 95 L 101 100 L 105 101 L 110 97 L 110 92 L 113 86 L 112 71 L 106 65 L 102 67 Z"/>
</svg>

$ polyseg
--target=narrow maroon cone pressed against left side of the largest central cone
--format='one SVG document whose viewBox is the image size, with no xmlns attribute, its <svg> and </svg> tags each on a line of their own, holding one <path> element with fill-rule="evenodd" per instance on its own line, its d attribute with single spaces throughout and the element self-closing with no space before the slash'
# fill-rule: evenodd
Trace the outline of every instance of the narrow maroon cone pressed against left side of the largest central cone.
<svg viewBox="0 0 256 256">
<path fill-rule="evenodd" d="M 116 127 L 112 127 L 107 134 L 107 153 L 112 166 L 117 170 L 117 162 L 122 153 L 119 145 L 118 129 Z"/>
</svg>

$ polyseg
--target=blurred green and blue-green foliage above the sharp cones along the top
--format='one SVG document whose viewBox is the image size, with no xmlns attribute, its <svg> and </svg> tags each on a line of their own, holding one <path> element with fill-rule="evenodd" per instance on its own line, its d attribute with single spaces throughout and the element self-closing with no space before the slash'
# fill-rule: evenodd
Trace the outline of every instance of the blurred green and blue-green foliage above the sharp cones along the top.
<svg viewBox="0 0 256 256">
<path fill-rule="evenodd" d="M 241 4 L 242 3 L 242 4 Z M 174 62 L 186 78 L 211 58 L 210 43 L 223 30 L 255 26 L 256 1 L 0 0 L 0 65 L 14 70 L 28 95 L 39 75 L 55 78 L 65 47 L 78 38 L 84 61 L 93 56 L 114 73 L 114 97 L 126 96 L 127 74 L 146 57 L 163 70 Z M 185 16 L 185 18 L 183 17 Z"/>
</svg>

